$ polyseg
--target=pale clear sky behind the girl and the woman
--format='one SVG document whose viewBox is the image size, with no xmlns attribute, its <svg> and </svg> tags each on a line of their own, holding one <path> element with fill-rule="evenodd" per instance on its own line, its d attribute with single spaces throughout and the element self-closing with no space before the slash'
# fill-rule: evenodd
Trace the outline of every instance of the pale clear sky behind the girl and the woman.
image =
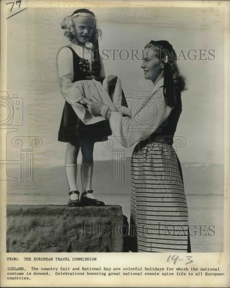
<svg viewBox="0 0 230 288">
<path fill-rule="evenodd" d="M 178 148 L 181 162 L 224 163 L 224 11 L 222 8 L 92 8 L 102 30 L 100 49 L 140 51 L 150 40 L 168 40 L 177 52 L 212 49 L 214 60 L 178 60 L 187 79 L 182 93 L 182 114 L 175 138 L 184 137 L 186 145 Z M 64 164 L 66 143 L 57 141 L 64 99 L 57 81 L 56 55 L 68 45 L 60 23 L 70 8 L 27 8 L 8 19 L 7 90 L 10 97 L 23 98 L 23 125 L 17 114 L 8 128 L 17 131 L 6 138 L 8 159 L 20 158 L 11 140 L 15 136 L 40 137 L 35 149 L 35 166 Z M 24 13 L 24 14 L 23 14 Z M 126 54 L 122 54 L 123 57 Z M 208 56 L 206 53 L 205 56 Z M 187 57 L 186 57 L 187 58 Z M 199 58 L 199 57 L 198 57 Z M 151 91 L 153 84 L 144 79 L 141 60 L 104 60 L 106 75 L 118 75 L 125 94 Z M 14 100 L 15 101 L 15 100 Z M 20 100 L 21 101 L 21 100 Z M 15 110 L 16 111 L 16 110 Z M 21 111 L 21 110 L 20 110 Z M 17 112 L 17 111 L 16 111 Z M 10 131 L 10 130 L 8 130 Z M 130 157 L 132 149 L 120 149 Z M 110 160 L 111 148 L 96 143 L 95 160 Z M 78 157 L 81 162 L 81 155 Z"/>
</svg>

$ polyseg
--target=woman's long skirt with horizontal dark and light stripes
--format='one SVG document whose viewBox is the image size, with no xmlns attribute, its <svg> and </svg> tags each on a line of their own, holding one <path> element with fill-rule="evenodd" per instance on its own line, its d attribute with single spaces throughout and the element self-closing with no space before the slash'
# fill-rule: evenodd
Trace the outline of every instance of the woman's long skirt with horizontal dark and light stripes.
<svg viewBox="0 0 230 288">
<path fill-rule="evenodd" d="M 172 145 L 135 148 L 131 175 L 130 251 L 189 252 L 188 208 Z"/>
</svg>

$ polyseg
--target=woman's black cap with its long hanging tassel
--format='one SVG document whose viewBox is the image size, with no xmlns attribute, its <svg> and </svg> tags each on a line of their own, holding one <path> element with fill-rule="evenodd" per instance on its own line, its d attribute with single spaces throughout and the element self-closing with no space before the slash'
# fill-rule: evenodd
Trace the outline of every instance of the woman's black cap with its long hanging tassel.
<svg viewBox="0 0 230 288">
<path fill-rule="evenodd" d="M 150 44 L 153 44 L 154 46 L 160 48 L 162 51 L 164 51 L 164 98 L 167 101 L 167 106 L 173 107 L 176 103 L 176 91 L 175 91 L 175 81 L 173 78 L 173 73 L 171 71 L 171 61 L 177 60 L 177 55 L 175 50 L 173 49 L 173 46 L 166 40 L 159 40 L 159 41 L 153 41 L 151 40 L 149 42 Z"/>
</svg>

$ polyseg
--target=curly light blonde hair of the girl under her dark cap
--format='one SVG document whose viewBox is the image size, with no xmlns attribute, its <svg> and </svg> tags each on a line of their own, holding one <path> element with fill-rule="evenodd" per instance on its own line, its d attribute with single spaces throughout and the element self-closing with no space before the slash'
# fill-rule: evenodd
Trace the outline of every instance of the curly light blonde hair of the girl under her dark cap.
<svg viewBox="0 0 230 288">
<path fill-rule="evenodd" d="M 83 9 L 82 9 L 83 10 Z M 94 17 L 94 14 L 89 14 L 89 17 Z M 79 15 L 69 15 L 64 18 L 64 20 L 61 22 L 61 29 L 64 29 L 64 36 L 67 37 L 71 43 L 76 43 L 77 39 L 75 37 L 75 25 L 73 22 L 74 17 L 79 17 Z M 102 31 L 98 29 L 96 24 L 96 18 L 95 19 L 95 26 L 94 26 L 94 32 L 89 40 L 89 42 L 93 43 L 98 39 L 98 37 L 102 35 Z"/>
</svg>

